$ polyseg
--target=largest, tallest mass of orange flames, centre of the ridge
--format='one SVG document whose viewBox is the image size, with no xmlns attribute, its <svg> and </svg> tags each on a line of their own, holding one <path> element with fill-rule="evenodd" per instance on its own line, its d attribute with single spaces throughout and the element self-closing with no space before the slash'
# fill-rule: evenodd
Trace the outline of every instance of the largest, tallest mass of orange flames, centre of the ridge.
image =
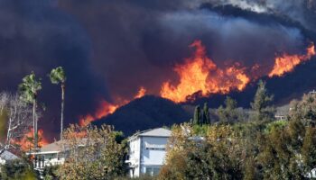
<svg viewBox="0 0 316 180">
<path fill-rule="evenodd" d="M 245 68 L 239 68 L 238 63 L 224 69 L 219 68 L 206 56 L 205 47 L 200 40 L 195 40 L 190 47 L 195 48 L 194 55 L 186 58 L 184 64 L 174 67 L 174 71 L 180 76 L 180 83 L 163 83 L 160 92 L 162 97 L 181 103 L 197 92 L 208 95 L 227 94 L 232 89 L 241 91 L 250 81 Z"/>
</svg>

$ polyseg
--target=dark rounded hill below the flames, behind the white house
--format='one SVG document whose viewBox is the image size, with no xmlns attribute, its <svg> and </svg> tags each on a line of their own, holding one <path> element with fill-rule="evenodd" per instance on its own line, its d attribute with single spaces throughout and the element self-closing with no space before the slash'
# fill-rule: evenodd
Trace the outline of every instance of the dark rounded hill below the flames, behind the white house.
<svg viewBox="0 0 316 180">
<path fill-rule="evenodd" d="M 114 125 L 116 130 L 122 130 L 126 136 L 136 130 L 169 126 L 173 123 L 189 121 L 191 115 L 180 104 L 161 97 L 146 95 L 143 98 L 120 107 L 113 114 L 93 124 L 103 123 Z"/>
</svg>

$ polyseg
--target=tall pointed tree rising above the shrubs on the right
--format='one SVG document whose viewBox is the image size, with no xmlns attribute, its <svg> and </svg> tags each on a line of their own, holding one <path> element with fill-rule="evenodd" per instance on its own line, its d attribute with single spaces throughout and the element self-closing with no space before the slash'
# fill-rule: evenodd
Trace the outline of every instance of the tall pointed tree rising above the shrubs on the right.
<svg viewBox="0 0 316 180">
<path fill-rule="evenodd" d="M 255 112 L 257 121 L 271 121 L 274 119 L 275 109 L 271 105 L 274 95 L 268 94 L 265 88 L 265 82 L 260 80 L 253 103 L 250 103 L 252 110 Z"/>
</svg>

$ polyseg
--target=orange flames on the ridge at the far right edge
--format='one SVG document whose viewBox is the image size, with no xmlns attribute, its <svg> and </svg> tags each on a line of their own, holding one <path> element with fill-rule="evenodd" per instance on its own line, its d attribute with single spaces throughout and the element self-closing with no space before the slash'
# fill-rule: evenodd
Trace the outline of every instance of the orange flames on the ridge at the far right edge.
<svg viewBox="0 0 316 180">
<path fill-rule="evenodd" d="M 305 55 L 288 55 L 284 53 L 282 57 L 275 58 L 274 68 L 268 76 L 283 76 L 284 73 L 293 71 L 293 68 L 302 61 L 309 60 L 315 55 L 314 44 L 312 43 L 306 51 L 307 53 Z"/>
</svg>

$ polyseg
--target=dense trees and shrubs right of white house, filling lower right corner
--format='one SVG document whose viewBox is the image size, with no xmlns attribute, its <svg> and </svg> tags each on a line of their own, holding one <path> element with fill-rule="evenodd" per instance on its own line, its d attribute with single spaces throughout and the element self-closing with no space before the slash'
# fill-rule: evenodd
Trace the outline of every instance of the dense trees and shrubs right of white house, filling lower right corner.
<svg viewBox="0 0 316 180">
<path fill-rule="evenodd" d="M 173 126 L 172 146 L 158 179 L 305 179 L 311 175 L 316 167 L 316 94 L 294 101 L 286 121 L 275 121 L 272 99 L 265 83 L 259 82 L 249 116 L 240 116 L 237 102 L 228 97 L 225 107 L 218 108 L 218 123 Z"/>
</svg>

